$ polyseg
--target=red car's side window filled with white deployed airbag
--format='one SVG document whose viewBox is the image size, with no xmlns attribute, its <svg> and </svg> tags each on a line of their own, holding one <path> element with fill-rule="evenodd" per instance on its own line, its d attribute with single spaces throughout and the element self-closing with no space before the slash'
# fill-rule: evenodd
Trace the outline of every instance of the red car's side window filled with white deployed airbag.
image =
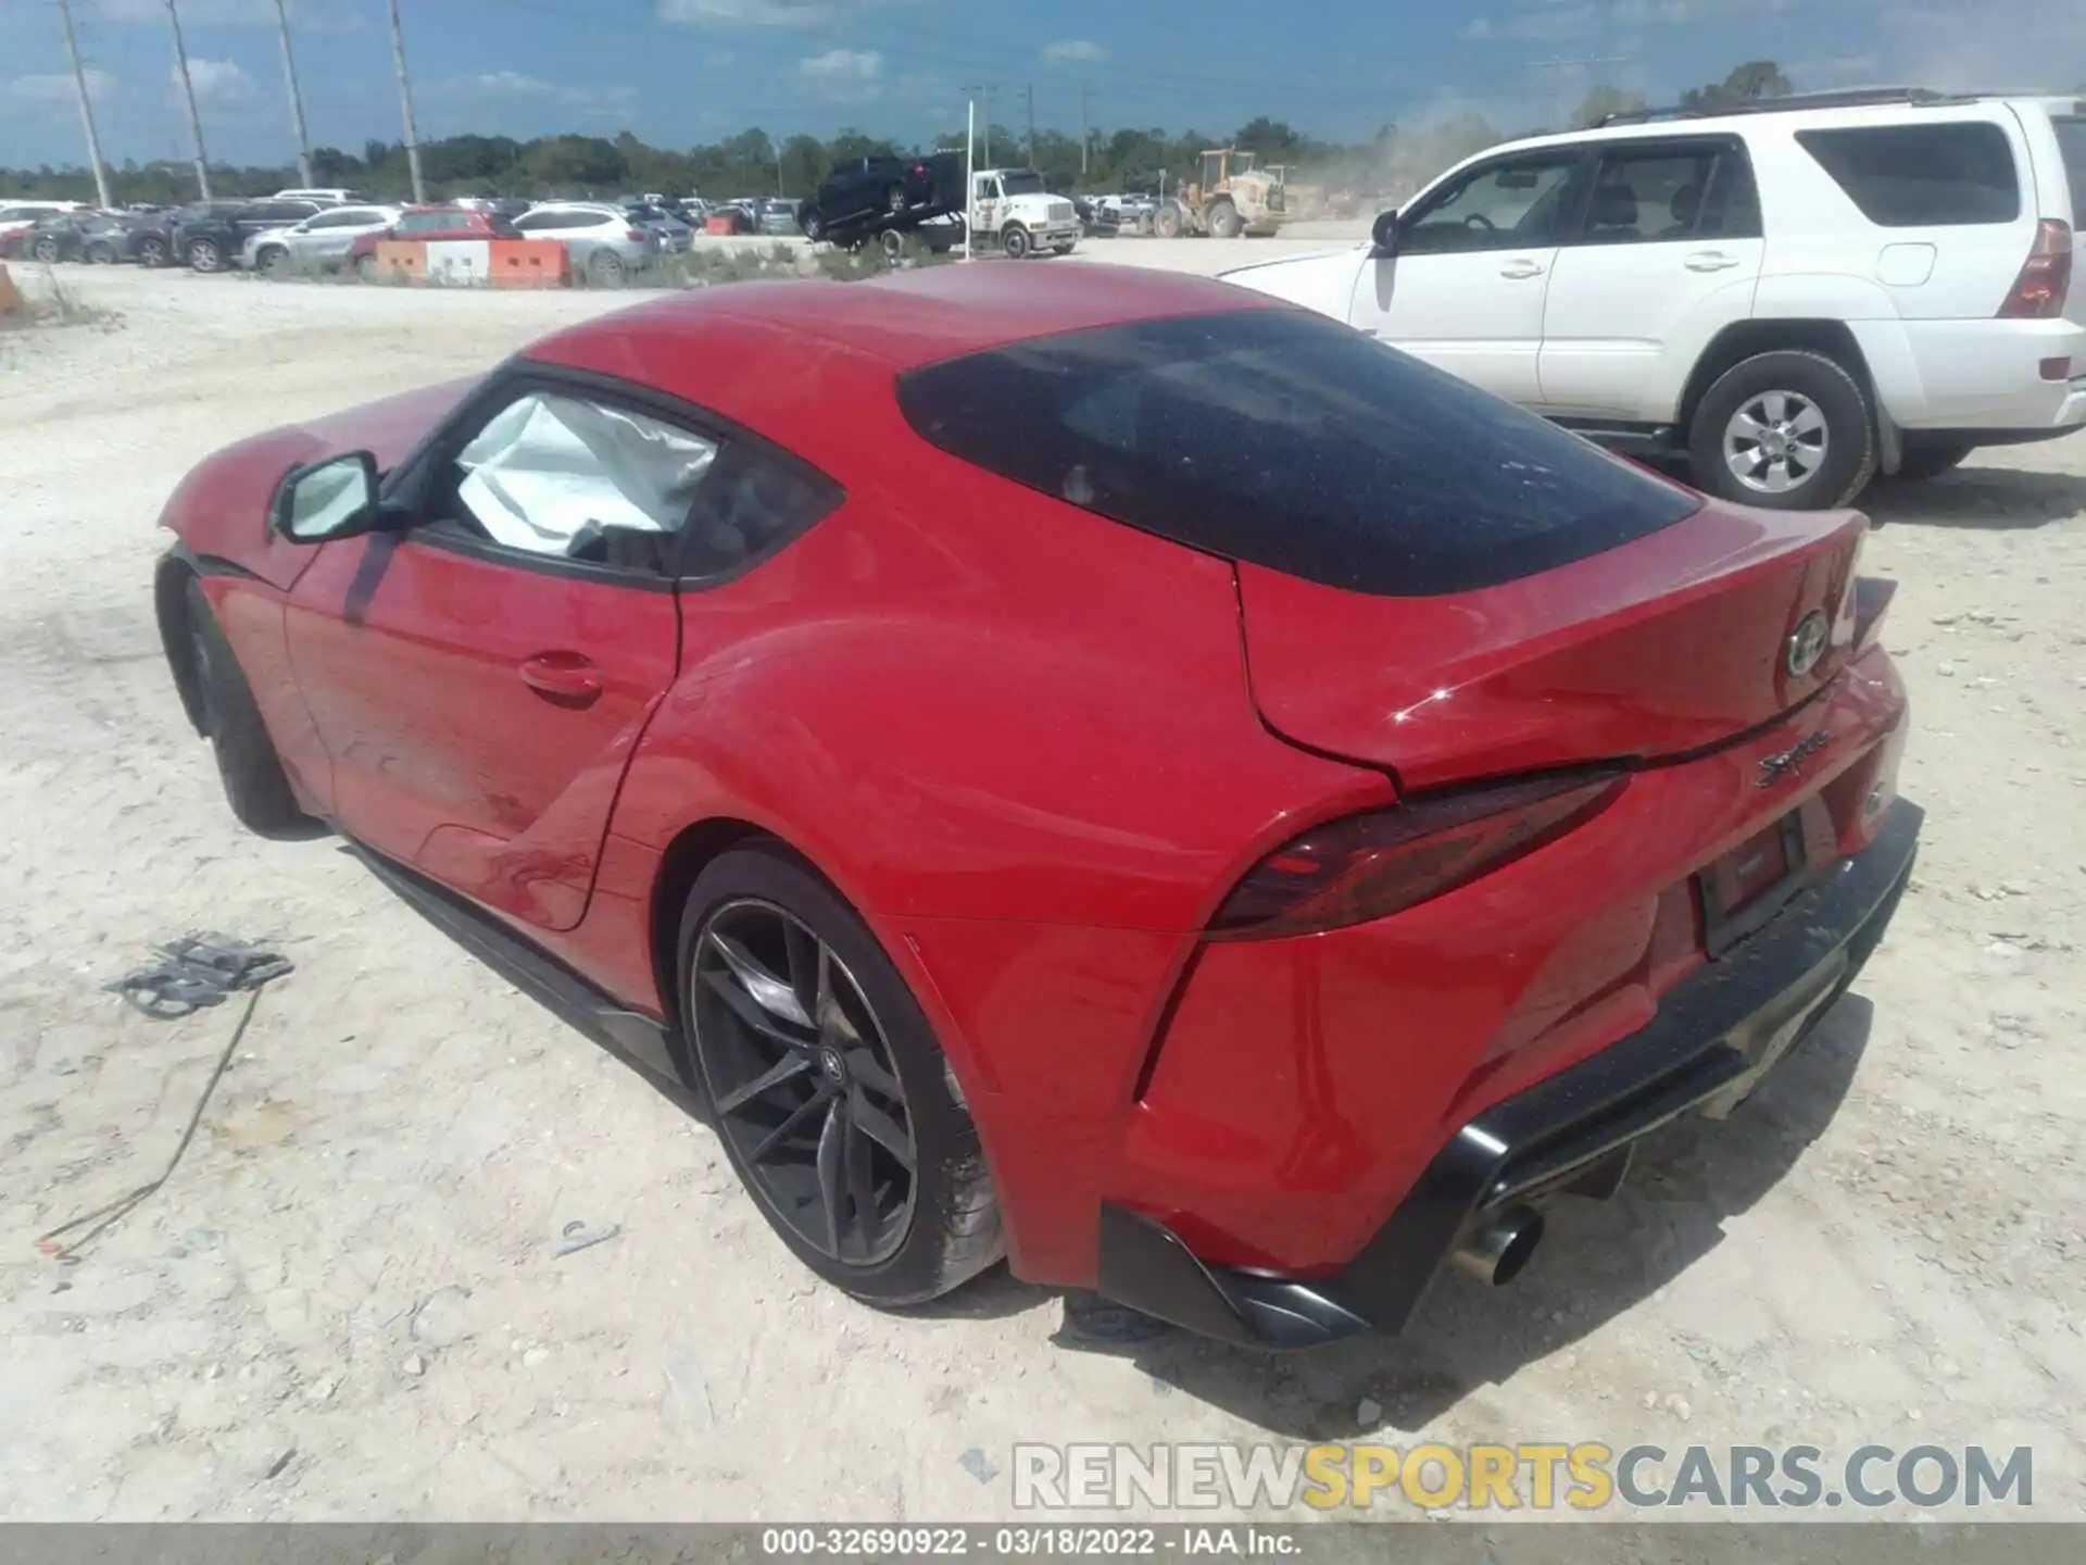
<svg viewBox="0 0 2086 1565">
<path fill-rule="evenodd" d="M 457 520 L 522 553 L 663 572 L 715 455 L 645 413 L 530 392 L 457 453 Z"/>
</svg>

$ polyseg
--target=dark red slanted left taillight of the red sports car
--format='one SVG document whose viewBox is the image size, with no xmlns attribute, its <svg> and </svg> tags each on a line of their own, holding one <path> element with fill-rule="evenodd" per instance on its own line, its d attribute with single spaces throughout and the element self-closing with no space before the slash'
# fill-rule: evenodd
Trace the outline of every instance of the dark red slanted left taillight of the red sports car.
<svg viewBox="0 0 2086 1565">
<path fill-rule="evenodd" d="M 1542 847 L 1621 791 L 1615 772 L 1550 774 L 1331 820 L 1247 870 L 1210 933 L 1270 939 L 1383 918 Z"/>
</svg>

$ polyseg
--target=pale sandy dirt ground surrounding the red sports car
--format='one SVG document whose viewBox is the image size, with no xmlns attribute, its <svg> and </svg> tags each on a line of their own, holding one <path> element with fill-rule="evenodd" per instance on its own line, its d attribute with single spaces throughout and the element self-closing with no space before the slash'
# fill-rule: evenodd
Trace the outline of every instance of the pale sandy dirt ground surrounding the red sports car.
<svg viewBox="0 0 2086 1565">
<path fill-rule="evenodd" d="M 2030 1444 L 2036 1515 L 2086 1515 L 2086 438 L 1867 499 L 1925 858 L 1746 1110 L 1404 1340 L 1103 1356 L 1005 1275 L 909 1317 L 814 1285 L 705 1129 L 336 845 L 240 835 L 179 720 L 148 582 L 196 457 L 620 300 L 65 275 L 121 323 L 0 334 L 0 1515 L 978 1519 L 1016 1440 L 1373 1429 Z M 60 1267 L 33 1237 L 159 1173 L 234 1022 L 100 989 L 192 929 L 298 970 L 173 1183 Z M 557 1258 L 572 1221 L 622 1233 Z"/>
</svg>

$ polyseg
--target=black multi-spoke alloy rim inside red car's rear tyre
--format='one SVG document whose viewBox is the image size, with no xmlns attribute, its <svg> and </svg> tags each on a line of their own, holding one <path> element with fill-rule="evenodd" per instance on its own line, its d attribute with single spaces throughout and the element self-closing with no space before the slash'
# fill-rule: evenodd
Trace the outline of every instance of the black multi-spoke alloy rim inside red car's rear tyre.
<svg viewBox="0 0 2086 1565">
<path fill-rule="evenodd" d="M 914 1219 L 920 1150 L 891 1041 L 855 974 L 759 897 L 695 937 L 695 1054 L 755 1200 L 845 1269 L 887 1262 Z"/>
</svg>

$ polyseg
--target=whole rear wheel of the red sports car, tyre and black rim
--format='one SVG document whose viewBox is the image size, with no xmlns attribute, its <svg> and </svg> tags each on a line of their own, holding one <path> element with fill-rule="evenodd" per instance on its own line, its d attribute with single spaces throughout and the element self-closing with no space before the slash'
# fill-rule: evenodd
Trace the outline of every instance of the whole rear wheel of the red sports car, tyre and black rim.
<svg viewBox="0 0 2086 1565">
<path fill-rule="evenodd" d="M 734 847 L 697 876 L 676 949 L 718 1139 L 805 1267 L 899 1306 L 999 1260 L 978 1127 L 905 979 L 830 885 L 780 845 Z"/>
</svg>

